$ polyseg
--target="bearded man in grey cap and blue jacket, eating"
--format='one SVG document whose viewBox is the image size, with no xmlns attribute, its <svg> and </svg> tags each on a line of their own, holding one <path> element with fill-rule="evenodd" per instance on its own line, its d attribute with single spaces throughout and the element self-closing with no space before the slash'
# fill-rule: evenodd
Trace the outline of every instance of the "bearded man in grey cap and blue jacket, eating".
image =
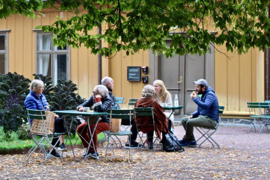
<svg viewBox="0 0 270 180">
<path fill-rule="evenodd" d="M 197 110 L 188 117 L 182 118 L 182 125 L 186 131 L 185 136 L 179 141 L 183 147 L 196 147 L 197 143 L 193 135 L 194 126 L 215 127 L 218 123 L 218 99 L 214 90 L 207 86 L 205 79 L 193 82 L 197 94 L 191 93 L 190 97 L 196 103 Z"/>
</svg>

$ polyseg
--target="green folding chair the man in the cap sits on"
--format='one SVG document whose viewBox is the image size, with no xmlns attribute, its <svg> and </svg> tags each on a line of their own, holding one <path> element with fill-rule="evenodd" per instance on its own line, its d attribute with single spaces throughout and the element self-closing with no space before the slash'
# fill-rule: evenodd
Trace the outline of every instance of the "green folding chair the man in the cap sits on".
<svg viewBox="0 0 270 180">
<path fill-rule="evenodd" d="M 222 114 L 223 114 L 223 111 L 224 111 L 224 106 L 219 106 L 219 111 L 218 111 L 218 113 L 219 113 L 219 115 L 220 115 L 220 117 L 219 117 L 219 119 L 218 119 L 218 124 L 216 125 L 216 127 L 214 127 L 214 128 L 212 128 L 212 127 L 203 127 L 203 126 L 194 126 L 201 134 L 202 134 L 202 136 L 197 140 L 197 142 L 201 139 L 201 138 L 205 138 L 204 139 L 204 141 L 202 141 L 200 144 L 199 144 L 199 147 L 207 140 L 207 141 L 209 141 L 211 144 L 212 144 L 212 146 L 214 147 L 214 146 L 217 146 L 218 148 L 220 148 L 219 147 L 219 145 L 218 145 L 218 143 L 216 143 L 216 141 L 214 141 L 214 139 L 211 137 L 215 132 L 216 132 L 216 130 L 218 129 L 218 125 L 219 125 L 219 123 L 220 123 L 220 121 L 221 121 L 221 118 L 222 118 Z M 206 130 L 204 130 L 204 129 L 206 129 Z M 215 143 L 215 144 L 214 144 Z"/>
</svg>

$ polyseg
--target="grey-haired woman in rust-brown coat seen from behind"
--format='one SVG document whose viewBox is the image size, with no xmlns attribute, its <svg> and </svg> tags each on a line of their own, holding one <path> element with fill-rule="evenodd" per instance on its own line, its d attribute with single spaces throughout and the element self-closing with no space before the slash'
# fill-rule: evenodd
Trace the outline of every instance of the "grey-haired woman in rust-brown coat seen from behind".
<svg viewBox="0 0 270 180">
<path fill-rule="evenodd" d="M 168 120 L 166 115 L 163 113 L 161 105 L 153 97 L 155 95 L 155 88 L 151 85 L 144 86 L 142 90 L 142 98 L 136 101 L 134 107 L 153 107 L 154 108 L 154 121 L 155 121 L 155 131 L 157 132 L 158 138 L 161 140 L 161 132 L 168 132 Z M 136 117 L 136 122 L 142 125 L 153 125 L 152 117 Z M 147 133 L 148 137 L 148 147 L 153 148 L 153 136 L 154 127 L 153 126 L 140 126 L 138 127 L 143 133 Z"/>
</svg>

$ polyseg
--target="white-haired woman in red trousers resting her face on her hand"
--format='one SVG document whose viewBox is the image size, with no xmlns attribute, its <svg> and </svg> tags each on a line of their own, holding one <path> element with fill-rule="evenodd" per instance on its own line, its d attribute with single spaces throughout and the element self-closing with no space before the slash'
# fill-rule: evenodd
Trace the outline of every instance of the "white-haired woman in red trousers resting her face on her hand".
<svg viewBox="0 0 270 180">
<path fill-rule="evenodd" d="M 95 86 L 93 90 L 92 96 L 88 100 L 86 100 L 84 103 L 79 105 L 77 107 L 77 111 L 84 111 L 84 107 L 90 107 L 90 109 L 96 111 L 96 112 L 107 112 L 108 109 L 111 107 L 112 100 L 110 96 L 108 95 L 108 89 L 104 85 L 97 85 Z M 91 157 L 94 159 L 98 159 L 98 134 L 100 132 L 110 130 L 110 121 L 107 119 L 107 115 L 100 116 L 101 120 L 98 122 L 96 126 L 96 130 L 93 135 L 93 142 L 96 149 L 96 153 L 93 147 L 90 146 L 90 149 L 88 151 L 88 154 L 83 154 L 83 156 Z M 86 127 L 85 127 L 86 126 Z M 88 147 L 88 144 L 90 143 L 90 132 L 89 128 L 87 127 L 87 123 L 82 123 L 77 128 L 77 133 L 80 134 L 79 137 L 81 138 L 81 141 L 83 143 L 83 146 L 85 148 Z M 93 132 L 95 127 L 95 124 L 90 125 L 91 132 Z"/>
</svg>

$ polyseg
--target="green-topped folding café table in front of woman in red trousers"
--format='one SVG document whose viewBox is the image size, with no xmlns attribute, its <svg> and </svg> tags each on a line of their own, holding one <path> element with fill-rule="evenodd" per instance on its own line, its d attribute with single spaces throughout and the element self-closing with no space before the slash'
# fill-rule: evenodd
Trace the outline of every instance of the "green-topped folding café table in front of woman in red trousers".
<svg viewBox="0 0 270 180">
<path fill-rule="evenodd" d="M 107 112 L 95 112 L 95 111 L 83 112 L 83 111 L 76 111 L 76 110 L 64 110 L 64 111 L 54 111 L 54 113 L 56 113 L 57 115 L 64 115 L 64 122 L 65 122 L 65 125 L 66 125 L 66 128 L 67 128 L 68 138 L 69 138 L 69 141 L 70 141 L 70 144 L 71 144 L 71 149 L 72 149 L 73 157 L 74 158 L 75 158 L 75 154 L 74 154 L 73 146 L 75 145 L 76 142 L 74 144 L 72 144 L 71 139 L 70 139 L 71 128 L 73 128 L 72 127 L 73 116 L 81 115 L 81 116 L 87 117 L 87 124 L 88 124 L 88 128 L 89 128 L 89 131 L 90 131 L 91 139 L 90 139 L 90 142 L 88 143 L 89 145 L 88 145 L 86 154 L 89 151 L 89 148 L 91 146 L 91 143 L 92 143 L 92 146 L 91 147 L 94 148 L 94 151 L 96 153 L 96 149 L 94 147 L 94 141 L 93 141 L 92 134 L 94 134 L 94 132 L 96 130 L 96 126 L 97 126 L 98 122 L 100 121 L 98 117 L 101 116 L 101 115 L 107 115 Z M 69 124 L 69 126 L 67 126 L 67 123 L 66 123 L 66 115 L 71 115 L 72 116 L 71 123 Z M 96 121 L 94 122 L 94 123 L 96 123 L 96 126 L 95 126 L 93 132 L 91 132 L 91 130 L 90 130 L 90 123 L 91 123 L 90 122 L 90 118 L 91 118 L 91 120 L 93 120 L 92 117 L 95 117 L 94 119 L 96 119 Z M 93 124 L 93 122 L 91 124 Z M 73 129 L 76 130 L 75 128 L 73 128 Z M 79 134 L 79 136 L 80 136 L 80 134 Z M 86 160 L 86 156 L 84 157 L 84 160 Z"/>
</svg>

